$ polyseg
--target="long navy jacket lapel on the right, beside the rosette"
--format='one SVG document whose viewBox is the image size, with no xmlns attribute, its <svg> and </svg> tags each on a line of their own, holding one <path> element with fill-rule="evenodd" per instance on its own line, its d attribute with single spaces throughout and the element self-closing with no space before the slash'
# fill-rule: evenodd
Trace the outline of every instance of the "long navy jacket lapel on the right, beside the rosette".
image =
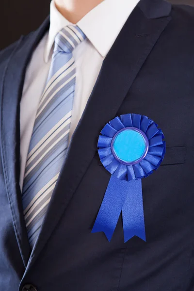
<svg viewBox="0 0 194 291">
<path fill-rule="evenodd" d="M 152 19 L 155 17 L 155 9 L 151 14 L 147 0 L 141 1 L 140 6 L 137 6 L 129 16 L 103 62 L 96 85 L 72 137 L 28 268 L 32 266 L 49 240 L 96 154 L 101 129 L 115 117 L 132 82 L 170 20 L 168 16 L 170 6 L 165 6 L 161 0 L 156 1 L 161 4 L 161 14 L 157 14 L 160 18 Z M 157 7 L 159 6 L 158 4 Z M 146 17 L 147 12 L 149 15 Z"/>
</svg>

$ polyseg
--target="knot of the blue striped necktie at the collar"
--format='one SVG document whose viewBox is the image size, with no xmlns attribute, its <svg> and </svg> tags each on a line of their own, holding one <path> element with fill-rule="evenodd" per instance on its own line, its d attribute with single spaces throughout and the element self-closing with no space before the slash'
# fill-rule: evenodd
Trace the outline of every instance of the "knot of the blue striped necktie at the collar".
<svg viewBox="0 0 194 291">
<path fill-rule="evenodd" d="M 77 25 L 65 26 L 55 37 L 54 52 L 71 53 L 85 38 L 85 34 Z"/>
</svg>

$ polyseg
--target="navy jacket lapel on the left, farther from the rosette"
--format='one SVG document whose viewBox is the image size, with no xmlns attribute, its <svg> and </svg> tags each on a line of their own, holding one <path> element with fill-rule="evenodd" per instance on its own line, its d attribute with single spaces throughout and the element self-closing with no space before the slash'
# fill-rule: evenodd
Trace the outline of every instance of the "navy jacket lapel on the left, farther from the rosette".
<svg viewBox="0 0 194 291">
<path fill-rule="evenodd" d="M 49 28 L 47 19 L 39 30 L 25 40 L 21 37 L 4 69 L 1 88 L 0 147 L 2 167 L 10 203 L 13 226 L 24 266 L 30 257 L 30 245 L 23 216 L 21 191 L 19 187 L 20 169 L 20 122 L 19 102 L 22 95 L 26 66 L 33 49 Z"/>
</svg>

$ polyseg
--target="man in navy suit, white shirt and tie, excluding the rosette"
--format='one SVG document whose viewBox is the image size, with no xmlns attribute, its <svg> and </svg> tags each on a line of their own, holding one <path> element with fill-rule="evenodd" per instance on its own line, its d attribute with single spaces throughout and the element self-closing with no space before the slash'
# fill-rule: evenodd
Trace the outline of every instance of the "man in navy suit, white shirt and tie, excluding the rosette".
<svg viewBox="0 0 194 291">
<path fill-rule="evenodd" d="M 163 0 L 54 0 L 0 52 L 0 290 L 194 290 L 194 9 Z M 143 179 L 146 242 L 92 233 L 115 116 L 164 132 Z"/>
</svg>

